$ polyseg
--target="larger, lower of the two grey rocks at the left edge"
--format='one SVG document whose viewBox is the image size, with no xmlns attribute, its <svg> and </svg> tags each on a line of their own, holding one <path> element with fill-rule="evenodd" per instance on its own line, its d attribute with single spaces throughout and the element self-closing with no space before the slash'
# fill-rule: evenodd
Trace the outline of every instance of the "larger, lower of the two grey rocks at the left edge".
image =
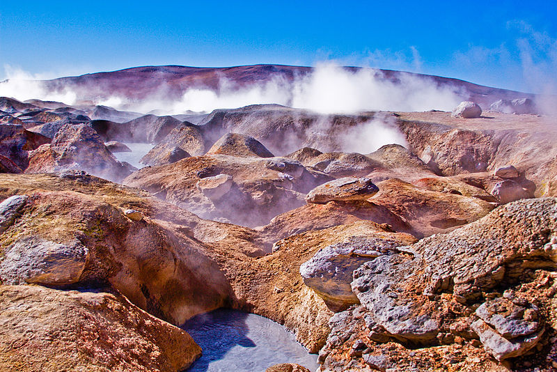
<svg viewBox="0 0 557 372">
<path fill-rule="evenodd" d="M 28 236 L 6 248 L 0 279 L 3 284 L 73 284 L 79 281 L 87 258 L 88 249 L 78 240 L 60 244 Z"/>
</svg>

